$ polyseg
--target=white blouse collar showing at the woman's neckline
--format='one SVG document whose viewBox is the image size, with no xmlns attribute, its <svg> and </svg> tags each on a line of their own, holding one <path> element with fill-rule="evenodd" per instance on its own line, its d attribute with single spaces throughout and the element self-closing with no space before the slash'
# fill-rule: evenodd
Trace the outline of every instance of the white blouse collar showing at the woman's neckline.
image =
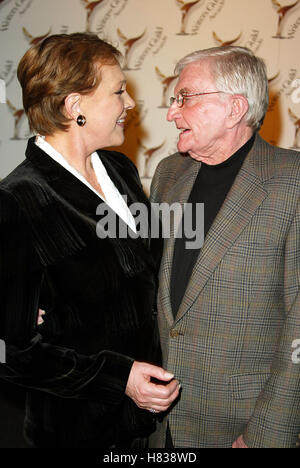
<svg viewBox="0 0 300 468">
<path fill-rule="evenodd" d="M 35 144 L 45 153 L 47 153 L 48 156 L 54 159 L 54 161 L 77 177 L 77 179 L 79 179 L 90 190 L 98 195 L 101 200 L 105 201 L 105 203 L 107 203 L 107 205 L 130 227 L 130 229 L 136 233 L 134 217 L 119 190 L 107 174 L 106 169 L 96 152 L 91 155 L 91 164 L 95 171 L 99 185 L 101 186 L 105 195 L 105 200 L 100 195 L 100 193 L 94 189 L 94 187 L 86 180 L 86 178 L 83 177 L 83 175 L 80 174 L 80 172 L 78 172 L 73 166 L 71 166 L 68 161 L 45 140 L 45 137 L 37 135 Z"/>
</svg>

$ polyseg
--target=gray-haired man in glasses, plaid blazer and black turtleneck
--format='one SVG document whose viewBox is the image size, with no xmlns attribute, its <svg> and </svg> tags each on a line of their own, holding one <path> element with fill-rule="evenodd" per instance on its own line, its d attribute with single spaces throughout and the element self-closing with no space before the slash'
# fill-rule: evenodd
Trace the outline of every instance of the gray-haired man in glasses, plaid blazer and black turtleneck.
<svg viewBox="0 0 300 468">
<path fill-rule="evenodd" d="M 182 391 L 153 445 L 295 447 L 300 154 L 257 133 L 268 80 L 248 49 L 195 52 L 176 73 L 167 118 L 181 132 L 179 152 L 159 164 L 152 202 L 204 203 L 204 243 L 187 248 L 177 231 L 165 240 L 163 364 Z"/>
</svg>

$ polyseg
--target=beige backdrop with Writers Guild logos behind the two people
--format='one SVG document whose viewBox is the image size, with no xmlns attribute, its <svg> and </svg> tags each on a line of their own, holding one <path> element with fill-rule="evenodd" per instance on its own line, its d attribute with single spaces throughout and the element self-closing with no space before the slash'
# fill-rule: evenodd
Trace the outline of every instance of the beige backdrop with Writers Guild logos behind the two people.
<svg viewBox="0 0 300 468">
<path fill-rule="evenodd" d="M 26 49 L 54 33 L 92 31 L 125 56 L 137 106 L 121 147 L 146 192 L 158 162 L 176 151 L 166 121 L 178 59 L 223 44 L 250 48 L 267 65 L 269 142 L 300 149 L 300 0 L 0 0 L 0 178 L 24 158 L 29 129 L 16 78 Z"/>
</svg>

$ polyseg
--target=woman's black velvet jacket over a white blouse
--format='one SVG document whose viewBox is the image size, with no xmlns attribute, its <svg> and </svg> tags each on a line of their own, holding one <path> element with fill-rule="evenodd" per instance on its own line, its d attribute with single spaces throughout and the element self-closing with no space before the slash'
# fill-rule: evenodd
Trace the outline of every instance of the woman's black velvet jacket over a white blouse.
<svg viewBox="0 0 300 468">
<path fill-rule="evenodd" d="M 128 204 L 149 206 L 132 162 L 98 154 Z M 126 446 L 154 429 L 124 392 L 133 360 L 160 360 L 160 244 L 99 239 L 100 203 L 34 138 L 0 184 L 0 377 L 29 389 L 25 434 L 35 446 Z"/>
</svg>

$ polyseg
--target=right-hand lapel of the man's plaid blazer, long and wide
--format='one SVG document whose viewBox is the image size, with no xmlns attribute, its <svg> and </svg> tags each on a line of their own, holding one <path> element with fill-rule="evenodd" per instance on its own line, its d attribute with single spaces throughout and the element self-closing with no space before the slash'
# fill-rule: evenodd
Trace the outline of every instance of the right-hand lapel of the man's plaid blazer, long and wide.
<svg viewBox="0 0 300 468">
<path fill-rule="evenodd" d="M 207 233 L 178 310 L 176 321 L 180 320 L 195 302 L 228 249 L 234 244 L 267 197 L 260 174 L 254 167 L 254 158 L 257 156 L 256 151 L 259 150 L 259 145 L 260 137 L 257 137 L 256 144 L 247 156 Z"/>
</svg>

